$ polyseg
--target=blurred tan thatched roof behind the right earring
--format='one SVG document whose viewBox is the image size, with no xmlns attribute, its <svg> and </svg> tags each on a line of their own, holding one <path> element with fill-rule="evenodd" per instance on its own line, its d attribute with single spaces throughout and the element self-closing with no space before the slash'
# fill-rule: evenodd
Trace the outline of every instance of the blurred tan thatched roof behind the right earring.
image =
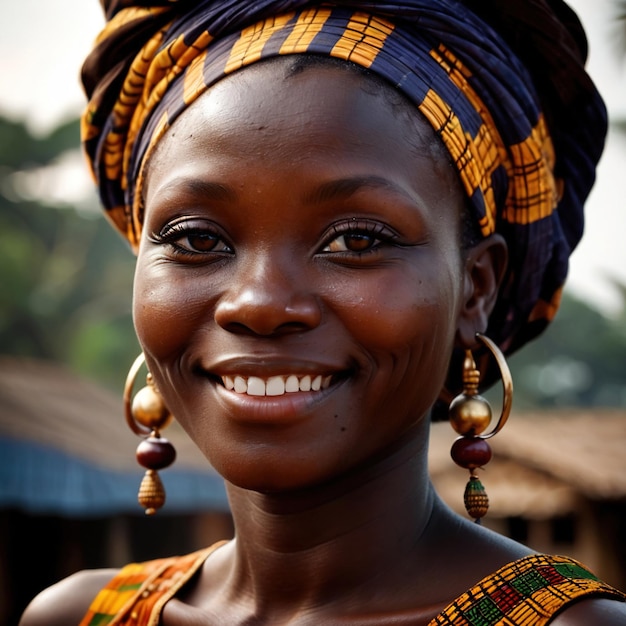
<svg viewBox="0 0 626 626">
<path fill-rule="evenodd" d="M 450 458 L 457 436 L 447 423 L 433 425 L 430 468 L 442 497 L 461 511 L 468 472 Z M 547 518 L 581 499 L 626 498 L 626 411 L 513 412 L 489 443 L 494 456 L 480 476 L 490 516 Z"/>
</svg>

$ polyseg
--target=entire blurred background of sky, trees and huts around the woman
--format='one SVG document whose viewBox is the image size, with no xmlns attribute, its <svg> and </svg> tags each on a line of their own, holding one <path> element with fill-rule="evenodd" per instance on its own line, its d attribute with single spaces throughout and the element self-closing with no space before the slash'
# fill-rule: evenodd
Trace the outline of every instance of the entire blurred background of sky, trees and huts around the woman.
<svg viewBox="0 0 626 626">
<path fill-rule="evenodd" d="M 557 319 L 510 360 L 513 416 L 483 482 L 488 524 L 626 588 L 626 3 L 573 0 L 611 127 Z M 168 504 L 136 503 L 138 443 L 121 394 L 139 352 L 134 257 L 98 208 L 79 148 L 80 63 L 97 0 L 0 1 L 0 624 L 83 567 L 229 537 L 224 488 L 174 425 Z M 498 389 L 490 392 L 494 409 Z M 431 470 L 462 512 L 447 424 Z M 463 513 L 464 514 L 464 513 Z M 35 555 L 38 567 L 32 566 Z M 28 558 L 27 558 L 28 557 Z"/>
</svg>

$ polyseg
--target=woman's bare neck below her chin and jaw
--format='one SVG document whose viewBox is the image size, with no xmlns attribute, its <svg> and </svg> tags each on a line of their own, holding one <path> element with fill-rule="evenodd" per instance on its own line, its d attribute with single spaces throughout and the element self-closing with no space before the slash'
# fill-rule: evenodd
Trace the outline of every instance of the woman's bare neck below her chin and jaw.
<svg viewBox="0 0 626 626">
<path fill-rule="evenodd" d="M 428 424 L 417 430 L 384 458 L 329 485 L 290 494 L 230 485 L 231 589 L 254 597 L 257 610 L 275 607 L 277 598 L 294 610 L 338 597 L 362 602 L 380 592 L 381 580 L 406 582 L 408 570 L 419 568 L 435 502 Z"/>
</svg>

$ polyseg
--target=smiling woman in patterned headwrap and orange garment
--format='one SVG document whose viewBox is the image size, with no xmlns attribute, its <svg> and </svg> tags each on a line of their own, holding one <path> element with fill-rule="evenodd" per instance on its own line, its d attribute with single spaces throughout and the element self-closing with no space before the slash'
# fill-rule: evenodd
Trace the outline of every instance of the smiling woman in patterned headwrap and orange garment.
<svg viewBox="0 0 626 626">
<path fill-rule="evenodd" d="M 623 624 L 621 592 L 459 518 L 426 467 L 477 333 L 510 353 L 558 307 L 606 130 L 576 17 L 136 4 L 104 3 L 85 146 L 235 539 L 74 575 L 22 625 Z"/>
</svg>

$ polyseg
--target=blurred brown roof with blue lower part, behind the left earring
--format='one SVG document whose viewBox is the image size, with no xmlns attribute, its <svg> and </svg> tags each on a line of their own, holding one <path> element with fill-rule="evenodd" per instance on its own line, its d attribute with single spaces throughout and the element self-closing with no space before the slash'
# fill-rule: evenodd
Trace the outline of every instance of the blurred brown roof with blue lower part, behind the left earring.
<svg viewBox="0 0 626 626">
<path fill-rule="evenodd" d="M 167 512 L 227 508 L 223 481 L 175 422 L 161 472 Z M 56 363 L 0 357 L 0 507 L 68 515 L 141 514 L 140 439 L 117 397 Z"/>
</svg>

